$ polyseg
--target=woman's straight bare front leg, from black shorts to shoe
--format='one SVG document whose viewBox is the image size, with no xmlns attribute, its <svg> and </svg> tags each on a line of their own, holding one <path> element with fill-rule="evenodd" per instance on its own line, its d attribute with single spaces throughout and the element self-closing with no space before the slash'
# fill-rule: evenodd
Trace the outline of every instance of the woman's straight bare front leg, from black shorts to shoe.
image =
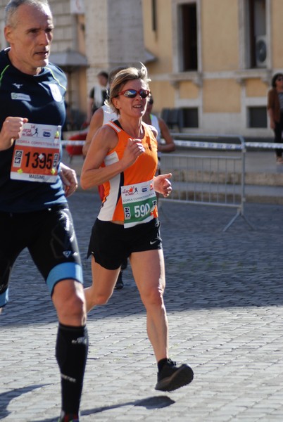
<svg viewBox="0 0 283 422">
<path fill-rule="evenodd" d="M 134 280 L 146 307 L 146 326 L 157 362 L 168 357 L 168 320 L 163 302 L 163 250 L 134 252 L 130 256 Z"/>
</svg>

